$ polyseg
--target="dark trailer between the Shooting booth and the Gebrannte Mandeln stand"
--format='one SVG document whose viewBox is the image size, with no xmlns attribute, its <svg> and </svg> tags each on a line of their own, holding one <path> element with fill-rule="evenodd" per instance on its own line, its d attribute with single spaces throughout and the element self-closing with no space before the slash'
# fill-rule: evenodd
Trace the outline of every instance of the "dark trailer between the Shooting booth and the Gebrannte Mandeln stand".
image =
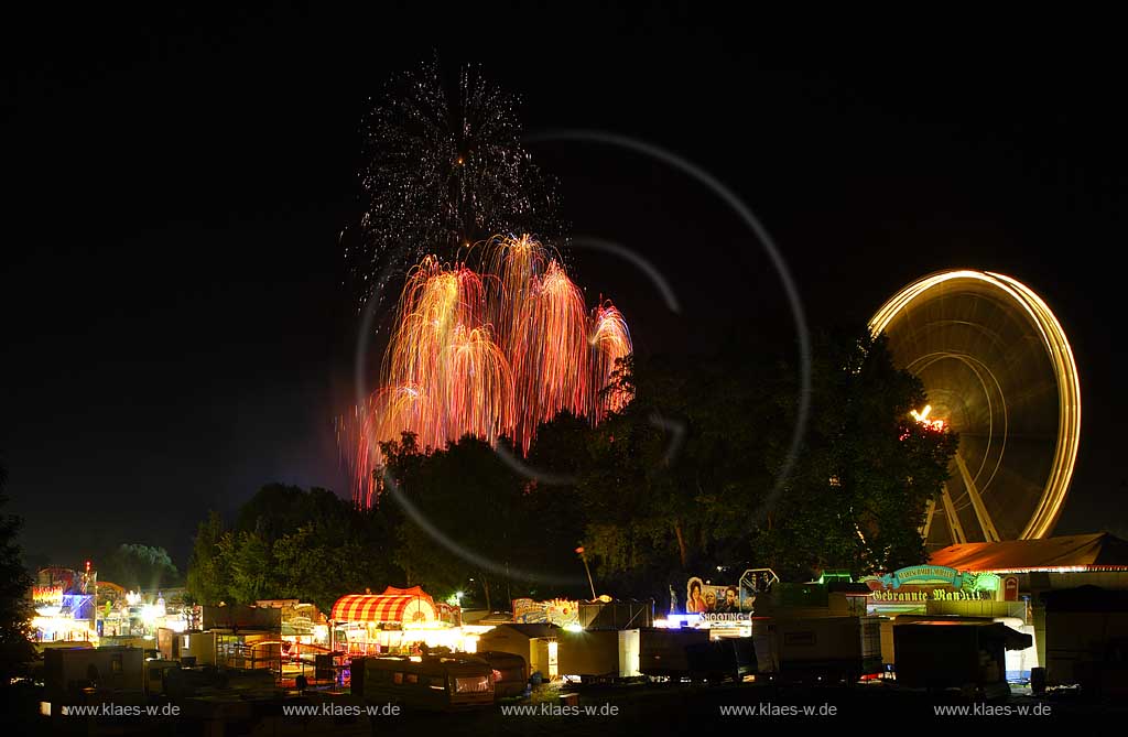
<svg viewBox="0 0 1128 737">
<path fill-rule="evenodd" d="M 779 681 L 849 685 L 884 670 L 879 617 L 754 618 L 752 641 L 758 672 Z"/>
</svg>

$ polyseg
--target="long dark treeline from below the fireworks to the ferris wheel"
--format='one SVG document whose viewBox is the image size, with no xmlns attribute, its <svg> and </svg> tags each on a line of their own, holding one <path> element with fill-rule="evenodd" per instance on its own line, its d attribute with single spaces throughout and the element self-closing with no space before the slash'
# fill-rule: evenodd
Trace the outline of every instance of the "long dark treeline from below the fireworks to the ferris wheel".
<svg viewBox="0 0 1128 737">
<path fill-rule="evenodd" d="M 590 596 L 578 546 L 597 594 L 638 597 L 732 564 L 795 580 L 924 560 L 917 529 L 957 438 L 911 420 L 926 397 L 884 339 L 818 336 L 805 392 L 792 362 L 735 345 L 628 360 L 608 391 L 634 400 L 597 428 L 557 416 L 527 457 L 470 437 L 441 449 L 409 433 L 382 444 L 372 510 L 267 486 L 232 528 L 214 515 L 201 525 L 190 590 L 326 608 L 345 593 L 418 584 L 504 608 L 514 596 Z"/>
</svg>

